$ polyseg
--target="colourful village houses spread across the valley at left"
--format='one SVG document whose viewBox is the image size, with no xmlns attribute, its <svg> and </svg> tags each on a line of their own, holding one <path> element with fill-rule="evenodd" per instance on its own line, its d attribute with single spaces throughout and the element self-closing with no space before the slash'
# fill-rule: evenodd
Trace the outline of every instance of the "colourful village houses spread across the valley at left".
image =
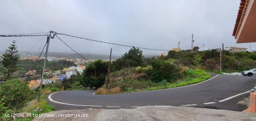
<svg viewBox="0 0 256 121">
<path fill-rule="evenodd" d="M 45 59 L 44 57 L 34 57 L 34 56 L 31 56 L 31 57 L 22 57 L 21 59 L 29 59 L 29 60 L 33 60 L 33 61 L 36 61 L 37 59 Z M 56 82 L 61 82 L 63 81 L 64 79 L 69 79 L 71 77 L 71 75 L 77 75 L 78 73 L 80 75 L 82 75 L 83 73 L 83 70 L 86 69 L 86 65 L 91 63 L 91 62 L 94 62 L 96 61 L 97 59 L 80 59 L 80 58 L 75 58 L 75 59 L 72 59 L 72 58 L 67 58 L 67 57 L 47 57 L 47 61 L 48 62 L 51 62 L 51 61 L 54 61 L 54 62 L 58 62 L 60 60 L 66 60 L 66 61 L 69 61 L 69 62 L 73 62 L 76 66 L 70 66 L 70 67 L 67 67 L 67 68 L 62 68 L 62 70 L 44 70 L 44 76 L 46 78 L 44 78 L 42 80 L 42 84 L 51 84 L 51 83 L 56 83 Z M 109 59 L 106 59 L 106 60 L 103 60 L 103 61 L 109 61 Z M 111 59 L 111 61 L 113 61 Z M 28 83 L 28 87 L 30 89 L 35 89 L 37 87 L 40 86 L 40 74 L 37 73 L 38 70 L 29 70 L 27 71 L 27 73 L 24 75 L 24 78 L 22 79 L 27 79 L 27 76 L 34 76 L 36 79 L 34 80 L 28 80 L 29 83 Z"/>
</svg>

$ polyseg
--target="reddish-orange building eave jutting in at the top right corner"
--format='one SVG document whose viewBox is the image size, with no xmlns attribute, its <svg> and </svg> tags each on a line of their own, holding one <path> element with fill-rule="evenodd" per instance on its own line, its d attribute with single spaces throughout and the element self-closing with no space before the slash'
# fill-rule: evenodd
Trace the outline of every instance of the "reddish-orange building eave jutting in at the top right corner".
<svg viewBox="0 0 256 121">
<path fill-rule="evenodd" d="M 241 0 L 233 36 L 236 43 L 256 42 L 256 0 Z"/>
</svg>

